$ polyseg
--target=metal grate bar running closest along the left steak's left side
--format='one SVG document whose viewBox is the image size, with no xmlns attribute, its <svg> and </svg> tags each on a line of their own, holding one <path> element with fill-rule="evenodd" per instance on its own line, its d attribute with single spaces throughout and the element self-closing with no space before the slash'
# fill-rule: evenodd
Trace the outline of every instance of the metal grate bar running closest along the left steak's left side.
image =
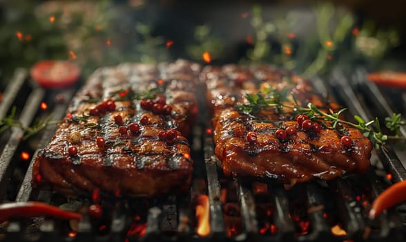
<svg viewBox="0 0 406 242">
<path fill-rule="evenodd" d="M 66 89 L 65 91 L 63 91 L 61 93 L 61 95 L 64 96 L 65 100 L 70 100 L 74 93 L 75 93 L 75 89 L 72 88 L 72 89 Z M 67 106 L 68 106 L 68 102 L 55 104 L 55 108 L 53 110 L 53 115 L 52 115 L 52 120 L 61 120 L 61 118 L 63 118 L 66 113 Z M 46 127 L 45 131 L 42 133 L 42 137 L 37 146 L 37 150 L 35 151 L 34 155 L 32 156 L 32 160 L 30 161 L 30 166 L 28 167 L 28 170 L 26 171 L 26 176 L 24 176 L 23 183 L 21 184 L 21 187 L 17 194 L 17 198 L 16 198 L 17 202 L 28 201 L 28 200 L 30 200 L 30 198 L 33 197 L 32 186 L 31 186 L 31 177 L 32 177 L 31 174 L 32 174 L 32 165 L 34 164 L 34 159 L 35 159 L 35 157 L 37 157 L 37 153 L 39 152 L 39 150 L 46 147 L 50 138 L 55 133 L 56 129 L 57 129 L 57 127 L 55 125 L 49 125 L 48 127 Z"/>
</svg>

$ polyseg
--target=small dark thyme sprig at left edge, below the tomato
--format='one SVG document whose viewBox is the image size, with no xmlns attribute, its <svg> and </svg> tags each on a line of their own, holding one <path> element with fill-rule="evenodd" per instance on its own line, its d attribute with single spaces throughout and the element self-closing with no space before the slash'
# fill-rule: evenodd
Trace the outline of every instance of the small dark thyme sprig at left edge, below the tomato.
<svg viewBox="0 0 406 242">
<path fill-rule="evenodd" d="M 12 127 L 19 127 L 24 131 L 23 140 L 30 138 L 31 136 L 35 135 L 45 127 L 51 124 L 57 124 L 59 121 L 50 120 L 52 118 L 53 113 L 50 113 L 42 120 L 37 120 L 32 127 L 24 126 L 19 120 L 15 118 L 16 114 L 16 107 L 13 106 L 9 115 L 6 115 L 3 119 L 0 120 L 0 133 L 11 129 Z"/>
</svg>

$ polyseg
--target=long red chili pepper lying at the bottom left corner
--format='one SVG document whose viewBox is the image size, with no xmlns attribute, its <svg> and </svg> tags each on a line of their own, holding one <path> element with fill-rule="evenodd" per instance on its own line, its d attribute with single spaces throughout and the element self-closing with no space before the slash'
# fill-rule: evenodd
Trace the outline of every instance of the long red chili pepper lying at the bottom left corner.
<svg viewBox="0 0 406 242">
<path fill-rule="evenodd" d="M 0 222 L 10 218 L 31 218 L 50 216 L 61 219 L 81 219 L 82 215 L 75 212 L 61 210 L 59 207 L 41 202 L 3 203 L 0 205 Z"/>
</svg>

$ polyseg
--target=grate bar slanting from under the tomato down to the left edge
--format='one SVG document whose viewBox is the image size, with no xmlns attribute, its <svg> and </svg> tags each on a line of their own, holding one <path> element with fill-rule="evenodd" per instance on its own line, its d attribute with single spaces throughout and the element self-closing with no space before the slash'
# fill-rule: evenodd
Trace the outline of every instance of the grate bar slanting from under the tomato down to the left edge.
<svg viewBox="0 0 406 242">
<path fill-rule="evenodd" d="M 30 93 L 28 100 L 26 102 L 26 106 L 24 106 L 23 111 L 21 113 L 21 117 L 19 121 L 24 127 L 27 127 L 32 119 L 37 113 L 38 106 L 45 95 L 45 91 L 43 89 L 35 89 Z M 12 157 L 14 156 L 17 147 L 19 146 L 21 137 L 23 136 L 23 130 L 19 127 L 13 127 L 11 136 L 4 147 L 3 153 L 0 156 L 0 199 L 3 199 L 4 192 L 5 192 L 5 185 L 8 180 L 8 176 L 6 176 L 7 172 L 10 172 L 12 169 L 12 165 L 10 164 Z"/>
</svg>

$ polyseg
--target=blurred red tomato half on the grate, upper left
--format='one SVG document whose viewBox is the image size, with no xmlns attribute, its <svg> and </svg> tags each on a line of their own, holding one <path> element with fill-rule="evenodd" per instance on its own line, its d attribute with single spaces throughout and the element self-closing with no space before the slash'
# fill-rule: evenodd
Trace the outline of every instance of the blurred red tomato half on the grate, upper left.
<svg viewBox="0 0 406 242">
<path fill-rule="evenodd" d="M 30 74 L 43 88 L 60 89 L 75 84 L 81 70 L 73 62 L 43 60 L 32 66 Z"/>
</svg>

